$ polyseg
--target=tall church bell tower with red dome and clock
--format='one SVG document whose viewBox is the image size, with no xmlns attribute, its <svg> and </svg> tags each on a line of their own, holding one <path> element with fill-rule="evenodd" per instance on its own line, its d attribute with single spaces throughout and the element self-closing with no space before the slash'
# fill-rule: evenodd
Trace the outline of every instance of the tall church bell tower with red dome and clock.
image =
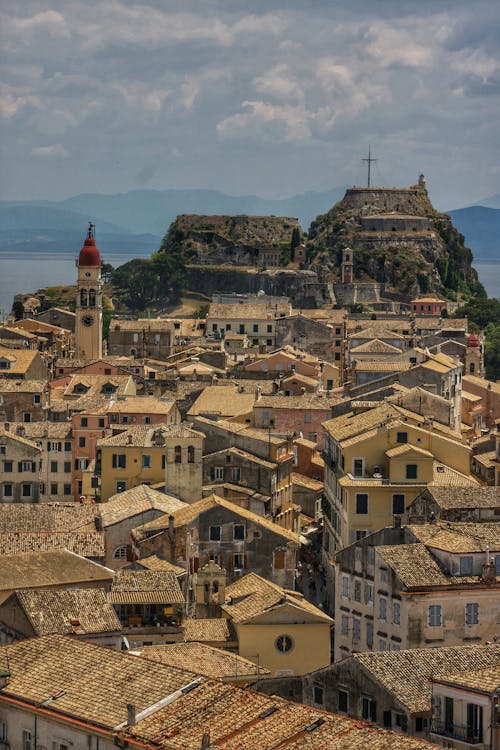
<svg viewBox="0 0 500 750">
<path fill-rule="evenodd" d="M 94 229 L 94 225 L 89 224 L 87 238 L 76 262 L 75 357 L 87 360 L 102 357 L 101 256 L 95 244 Z"/>
</svg>

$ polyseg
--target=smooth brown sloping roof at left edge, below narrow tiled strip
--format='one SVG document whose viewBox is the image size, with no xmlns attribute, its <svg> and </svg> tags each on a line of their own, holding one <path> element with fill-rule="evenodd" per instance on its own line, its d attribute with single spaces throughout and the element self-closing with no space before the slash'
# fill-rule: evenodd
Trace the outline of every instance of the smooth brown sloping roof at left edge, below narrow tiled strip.
<svg viewBox="0 0 500 750">
<path fill-rule="evenodd" d="M 110 581 L 113 571 L 74 552 L 30 552 L 0 557 L 0 591 Z"/>
</svg>

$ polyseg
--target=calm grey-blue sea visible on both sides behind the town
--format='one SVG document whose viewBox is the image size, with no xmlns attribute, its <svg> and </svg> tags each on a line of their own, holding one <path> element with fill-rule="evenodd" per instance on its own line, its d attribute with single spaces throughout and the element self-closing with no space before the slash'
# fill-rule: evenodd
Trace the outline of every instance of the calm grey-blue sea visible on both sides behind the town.
<svg viewBox="0 0 500 750">
<path fill-rule="evenodd" d="M 103 260 L 116 268 L 134 257 L 110 253 Z M 500 297 L 500 260 L 476 260 L 474 268 L 488 296 Z M 74 254 L 0 252 L 0 320 L 10 313 L 15 294 L 75 282 Z"/>
</svg>

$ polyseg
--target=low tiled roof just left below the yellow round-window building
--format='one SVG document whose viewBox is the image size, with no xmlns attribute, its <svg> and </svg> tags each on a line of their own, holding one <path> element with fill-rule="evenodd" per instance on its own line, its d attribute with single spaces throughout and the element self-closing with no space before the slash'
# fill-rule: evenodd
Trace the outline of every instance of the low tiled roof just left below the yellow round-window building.
<svg viewBox="0 0 500 750">
<path fill-rule="evenodd" d="M 160 664 L 188 669 L 195 674 L 220 679 L 238 678 L 245 675 L 266 675 L 268 669 L 258 667 L 249 659 L 243 659 L 230 651 L 208 646 L 206 643 L 175 643 L 166 646 L 145 646 L 140 655 Z"/>
</svg>

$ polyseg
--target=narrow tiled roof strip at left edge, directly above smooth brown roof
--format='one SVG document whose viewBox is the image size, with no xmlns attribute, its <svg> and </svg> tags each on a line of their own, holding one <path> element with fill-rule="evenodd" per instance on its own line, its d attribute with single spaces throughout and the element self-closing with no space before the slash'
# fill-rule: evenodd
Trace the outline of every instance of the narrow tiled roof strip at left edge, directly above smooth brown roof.
<svg viewBox="0 0 500 750">
<path fill-rule="evenodd" d="M 100 531 L 1 531 L 0 556 L 66 549 L 82 557 L 104 558 Z"/>
</svg>

